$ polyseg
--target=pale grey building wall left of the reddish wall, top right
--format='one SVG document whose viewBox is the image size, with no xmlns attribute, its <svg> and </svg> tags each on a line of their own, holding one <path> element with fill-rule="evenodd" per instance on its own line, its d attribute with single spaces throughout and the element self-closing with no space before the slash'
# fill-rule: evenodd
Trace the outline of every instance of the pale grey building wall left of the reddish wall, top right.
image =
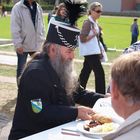
<svg viewBox="0 0 140 140">
<path fill-rule="evenodd" d="M 88 0 L 94 2 L 96 0 Z M 121 1 L 122 0 L 97 0 L 103 5 L 103 11 L 105 12 L 121 12 Z"/>
</svg>

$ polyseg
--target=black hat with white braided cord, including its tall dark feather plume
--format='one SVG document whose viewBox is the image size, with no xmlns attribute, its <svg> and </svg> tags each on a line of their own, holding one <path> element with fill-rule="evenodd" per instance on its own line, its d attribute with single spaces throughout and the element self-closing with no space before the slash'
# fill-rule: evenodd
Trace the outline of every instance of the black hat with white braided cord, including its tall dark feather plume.
<svg viewBox="0 0 140 140">
<path fill-rule="evenodd" d="M 75 48 L 78 45 L 78 35 L 80 30 L 74 26 L 76 20 L 83 12 L 83 3 L 77 3 L 75 0 L 66 0 L 65 2 L 70 23 L 64 23 L 56 20 L 50 20 L 49 29 L 47 33 L 47 42 L 55 43 L 68 48 Z M 74 10 L 74 14 L 72 13 Z M 77 12 L 76 12 L 77 11 Z"/>
</svg>

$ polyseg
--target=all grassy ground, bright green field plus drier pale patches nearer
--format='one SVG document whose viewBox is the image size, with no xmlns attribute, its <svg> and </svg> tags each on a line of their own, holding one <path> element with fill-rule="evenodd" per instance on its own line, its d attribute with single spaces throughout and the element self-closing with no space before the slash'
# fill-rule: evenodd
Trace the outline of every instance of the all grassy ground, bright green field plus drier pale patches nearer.
<svg viewBox="0 0 140 140">
<path fill-rule="evenodd" d="M 81 18 L 78 21 L 79 28 L 82 27 L 83 20 L 85 17 Z M 108 47 L 123 49 L 128 47 L 130 43 L 130 24 L 132 19 L 131 18 L 121 18 L 121 17 L 107 17 L 102 16 L 99 20 L 100 25 L 103 27 L 104 31 L 104 40 Z M 47 16 L 44 16 L 44 22 L 47 27 Z M 10 17 L 7 16 L 6 18 L 0 18 L 0 38 L 11 38 L 10 33 Z M 14 51 L 13 46 L 5 46 L 0 47 L 0 51 Z M 83 59 L 83 57 L 79 56 L 78 49 L 75 51 L 76 58 Z M 109 62 L 112 62 L 116 57 L 118 57 L 121 52 L 115 51 L 108 51 L 108 59 Z M 79 75 L 82 63 L 75 62 L 75 70 L 77 72 L 77 76 Z M 110 79 L 110 66 L 103 66 L 105 71 L 105 79 L 106 79 L 106 87 L 108 86 L 109 79 Z M 7 77 L 16 77 L 16 66 L 9 66 L 9 65 L 0 65 L 0 76 L 7 76 Z M 94 89 L 94 74 L 91 73 L 87 88 Z M 16 103 L 17 97 L 17 87 L 16 83 L 0 83 L 0 112 L 8 114 L 10 118 L 13 117 L 14 107 Z"/>
</svg>

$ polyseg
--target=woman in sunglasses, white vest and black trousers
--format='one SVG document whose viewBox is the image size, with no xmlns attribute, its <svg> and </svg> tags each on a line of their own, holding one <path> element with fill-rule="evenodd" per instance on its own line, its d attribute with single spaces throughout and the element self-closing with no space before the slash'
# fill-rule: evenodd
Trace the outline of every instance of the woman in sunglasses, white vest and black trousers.
<svg viewBox="0 0 140 140">
<path fill-rule="evenodd" d="M 83 68 L 79 76 L 80 85 L 86 88 L 86 84 L 91 71 L 95 75 L 95 92 L 105 94 L 105 75 L 101 65 L 102 52 L 98 41 L 99 27 L 97 19 L 100 18 L 102 13 L 102 5 L 99 2 L 93 2 L 89 6 L 88 19 L 85 20 L 80 33 L 80 41 L 86 44 L 89 41 L 93 42 L 95 52 L 91 55 L 84 56 Z M 99 51 L 96 51 L 99 50 Z"/>
</svg>

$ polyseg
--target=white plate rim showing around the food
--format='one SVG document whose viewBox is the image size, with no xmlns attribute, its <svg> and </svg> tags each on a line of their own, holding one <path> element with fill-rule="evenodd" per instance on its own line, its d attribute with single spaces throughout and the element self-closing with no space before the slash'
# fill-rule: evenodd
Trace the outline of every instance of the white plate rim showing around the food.
<svg viewBox="0 0 140 140">
<path fill-rule="evenodd" d="M 87 137 L 92 137 L 92 138 L 101 138 L 101 137 L 103 137 L 103 136 L 105 136 L 105 135 L 107 135 L 107 134 L 110 134 L 110 133 L 112 133 L 112 132 L 114 132 L 115 130 L 113 130 L 113 131 L 110 131 L 110 132 L 99 132 L 99 133 L 95 133 L 95 132 L 89 132 L 89 131 L 86 131 L 86 130 L 84 130 L 84 128 L 83 128 L 83 126 L 84 126 L 84 124 L 87 124 L 87 121 L 81 121 L 81 122 L 79 122 L 78 124 L 77 124 L 77 130 L 79 131 L 79 132 L 81 132 L 83 135 L 85 135 L 85 136 L 87 136 Z M 117 126 L 119 126 L 119 124 L 118 123 L 116 123 L 116 122 L 114 122 L 114 125 L 117 125 Z"/>
</svg>

